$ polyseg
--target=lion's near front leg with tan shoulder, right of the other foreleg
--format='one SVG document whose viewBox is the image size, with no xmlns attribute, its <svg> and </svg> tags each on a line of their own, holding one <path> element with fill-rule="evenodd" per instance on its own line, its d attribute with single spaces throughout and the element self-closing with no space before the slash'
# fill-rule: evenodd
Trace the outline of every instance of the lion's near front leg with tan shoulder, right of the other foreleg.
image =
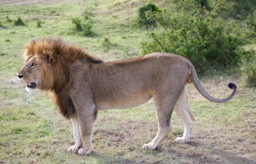
<svg viewBox="0 0 256 164">
<path fill-rule="evenodd" d="M 78 77 L 83 77 L 80 75 L 80 72 L 78 72 Z M 79 155 L 89 155 L 94 151 L 94 147 L 92 146 L 92 131 L 96 117 L 96 106 L 92 99 L 90 85 L 82 79 L 81 81 L 77 79 L 77 84 L 75 84 L 75 88 L 71 91 L 71 99 L 75 107 L 75 115 L 77 116 L 79 125 L 79 132 L 77 131 L 76 133 L 79 134 L 77 141 L 78 138 L 81 140 L 81 142 L 77 142 L 75 149 L 80 146 L 77 153 Z"/>
</svg>

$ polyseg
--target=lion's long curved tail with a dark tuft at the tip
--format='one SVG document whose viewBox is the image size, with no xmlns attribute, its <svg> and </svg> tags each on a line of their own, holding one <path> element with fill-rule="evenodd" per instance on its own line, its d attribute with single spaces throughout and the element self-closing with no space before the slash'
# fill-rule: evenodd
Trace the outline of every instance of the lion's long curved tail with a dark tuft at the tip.
<svg viewBox="0 0 256 164">
<path fill-rule="evenodd" d="M 199 81 L 199 79 L 197 77 L 197 73 L 195 71 L 195 67 L 192 65 L 192 63 L 189 60 L 187 60 L 187 59 L 185 60 L 185 62 L 187 63 L 187 65 L 189 66 L 189 69 L 191 71 L 190 78 L 191 78 L 193 84 L 195 85 L 195 88 L 206 99 L 208 99 L 210 101 L 217 102 L 217 103 L 222 103 L 222 102 L 225 102 L 225 101 L 228 101 L 229 99 L 231 99 L 234 96 L 234 94 L 236 93 L 236 85 L 234 83 L 228 83 L 228 87 L 230 89 L 233 89 L 232 93 L 228 97 L 226 97 L 224 99 L 217 99 L 215 97 L 212 97 L 212 95 L 207 93 L 207 91 L 205 91 L 205 89 L 201 85 L 201 83 L 200 83 L 200 81 Z"/>
</svg>

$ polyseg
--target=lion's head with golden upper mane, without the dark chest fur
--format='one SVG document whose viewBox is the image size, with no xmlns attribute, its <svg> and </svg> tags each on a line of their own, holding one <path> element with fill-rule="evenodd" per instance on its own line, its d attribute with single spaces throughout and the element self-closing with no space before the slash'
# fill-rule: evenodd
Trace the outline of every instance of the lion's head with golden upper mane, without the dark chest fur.
<svg viewBox="0 0 256 164">
<path fill-rule="evenodd" d="M 74 63 L 102 63 L 102 60 L 60 38 L 42 38 L 26 44 L 24 65 L 18 77 L 28 91 L 55 91 L 69 85 L 69 74 Z"/>
</svg>

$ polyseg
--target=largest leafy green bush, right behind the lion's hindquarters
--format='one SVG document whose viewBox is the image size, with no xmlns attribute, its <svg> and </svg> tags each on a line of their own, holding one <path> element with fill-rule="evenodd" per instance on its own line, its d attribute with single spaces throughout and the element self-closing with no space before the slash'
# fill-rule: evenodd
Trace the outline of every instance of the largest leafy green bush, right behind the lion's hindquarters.
<svg viewBox="0 0 256 164">
<path fill-rule="evenodd" d="M 181 12 L 164 9 L 161 13 L 150 13 L 163 30 L 153 32 L 150 40 L 141 43 L 142 53 L 180 54 L 191 60 L 199 73 L 209 67 L 237 64 L 237 50 L 245 41 L 236 25 L 216 18 L 215 12 L 216 8 L 204 9 L 202 13 L 194 0 L 187 0 L 183 1 Z"/>
</svg>

